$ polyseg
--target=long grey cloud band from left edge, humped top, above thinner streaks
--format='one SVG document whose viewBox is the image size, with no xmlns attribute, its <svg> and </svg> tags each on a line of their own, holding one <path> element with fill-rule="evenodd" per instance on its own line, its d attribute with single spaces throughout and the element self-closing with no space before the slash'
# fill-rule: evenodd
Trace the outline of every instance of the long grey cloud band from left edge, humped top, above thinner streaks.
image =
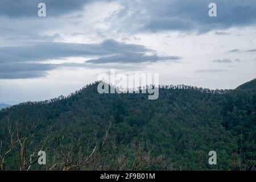
<svg viewBox="0 0 256 182">
<path fill-rule="evenodd" d="M 125 44 L 105 40 L 100 44 L 76 44 L 44 42 L 30 46 L 0 47 L 0 63 L 44 61 L 65 57 L 127 55 L 129 53 L 154 52 L 137 44 Z"/>
</svg>

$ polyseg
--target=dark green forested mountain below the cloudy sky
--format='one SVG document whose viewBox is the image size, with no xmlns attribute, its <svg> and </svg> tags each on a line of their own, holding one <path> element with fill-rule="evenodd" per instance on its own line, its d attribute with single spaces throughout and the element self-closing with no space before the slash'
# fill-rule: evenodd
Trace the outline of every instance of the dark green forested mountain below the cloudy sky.
<svg viewBox="0 0 256 182">
<path fill-rule="evenodd" d="M 2 170 L 255 170 L 256 80 L 234 90 L 160 86 L 158 100 L 98 94 L 95 82 L 1 110 L 0 125 Z"/>
</svg>

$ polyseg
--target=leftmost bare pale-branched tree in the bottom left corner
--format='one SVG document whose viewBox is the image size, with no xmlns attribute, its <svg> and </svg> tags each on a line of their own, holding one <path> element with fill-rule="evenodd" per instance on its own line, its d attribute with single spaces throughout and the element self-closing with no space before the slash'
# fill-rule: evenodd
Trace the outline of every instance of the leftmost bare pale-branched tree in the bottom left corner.
<svg viewBox="0 0 256 182">
<path fill-rule="evenodd" d="M 40 122 L 38 119 L 38 122 L 33 124 L 30 128 L 27 127 L 26 129 L 22 129 L 22 127 L 19 126 L 18 122 L 16 122 L 16 129 L 12 130 L 11 124 L 8 119 L 9 136 L 7 136 L 6 141 L 9 140 L 9 142 L 5 141 L 5 148 L 3 147 L 2 140 L 0 144 L 1 171 L 6 170 L 6 160 L 12 154 L 12 152 L 16 152 L 15 154 L 18 154 L 18 162 L 16 162 L 15 160 L 16 170 L 30 170 L 31 166 L 38 162 L 38 152 L 44 150 L 50 140 L 47 133 L 45 138 L 40 140 L 39 143 L 34 144 L 34 137 L 36 131 L 38 130 L 39 123 Z"/>
</svg>

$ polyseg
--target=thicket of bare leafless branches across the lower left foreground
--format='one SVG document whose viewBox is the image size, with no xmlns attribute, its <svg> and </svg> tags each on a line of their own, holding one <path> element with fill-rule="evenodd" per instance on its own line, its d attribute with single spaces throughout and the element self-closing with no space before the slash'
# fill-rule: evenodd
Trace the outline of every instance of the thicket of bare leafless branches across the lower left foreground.
<svg viewBox="0 0 256 182">
<path fill-rule="evenodd" d="M 85 140 L 81 137 L 73 137 L 73 133 L 67 135 L 64 132 L 52 136 L 52 128 L 48 129 L 42 139 L 42 136 L 36 135 L 39 123 L 38 119 L 38 123 L 26 127 L 26 130 L 16 123 L 14 131 L 9 123 L 9 137 L 7 137 L 9 142 L 3 147 L 1 140 L 0 145 L 1 170 L 5 170 L 6 159 L 11 152 L 14 152 L 16 156 L 14 163 L 17 170 L 38 169 L 39 167 L 34 165 L 39 159 L 37 154 L 47 148 L 47 158 L 50 160 L 45 169 L 49 171 L 143 170 L 161 162 L 161 158 L 152 156 L 154 144 L 149 147 L 148 144 L 143 146 L 141 143 L 134 142 L 131 146 L 120 146 L 110 135 L 113 118 L 110 119 L 109 125 L 105 126 L 102 139 L 98 139 L 97 131 L 95 131 L 94 139 L 89 139 L 87 146 L 84 145 Z"/>
</svg>

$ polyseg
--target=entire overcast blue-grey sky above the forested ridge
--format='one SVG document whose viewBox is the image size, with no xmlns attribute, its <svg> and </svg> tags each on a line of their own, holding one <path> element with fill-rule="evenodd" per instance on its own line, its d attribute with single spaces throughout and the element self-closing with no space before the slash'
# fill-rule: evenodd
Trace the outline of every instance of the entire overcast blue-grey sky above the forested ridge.
<svg viewBox="0 0 256 182">
<path fill-rule="evenodd" d="M 0 1 L 0 103 L 67 96 L 110 69 L 234 89 L 255 68 L 255 0 Z"/>
</svg>

